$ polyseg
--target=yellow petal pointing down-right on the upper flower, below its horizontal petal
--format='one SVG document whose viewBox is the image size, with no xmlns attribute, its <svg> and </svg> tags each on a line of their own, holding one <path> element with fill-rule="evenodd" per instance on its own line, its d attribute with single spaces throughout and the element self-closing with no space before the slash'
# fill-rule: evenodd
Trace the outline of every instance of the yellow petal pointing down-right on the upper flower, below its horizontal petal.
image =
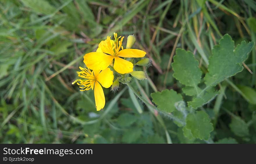
<svg viewBox="0 0 256 164">
<path fill-rule="evenodd" d="M 133 71 L 133 64 L 120 57 L 115 57 L 114 69 L 121 74 L 130 73 Z"/>
</svg>

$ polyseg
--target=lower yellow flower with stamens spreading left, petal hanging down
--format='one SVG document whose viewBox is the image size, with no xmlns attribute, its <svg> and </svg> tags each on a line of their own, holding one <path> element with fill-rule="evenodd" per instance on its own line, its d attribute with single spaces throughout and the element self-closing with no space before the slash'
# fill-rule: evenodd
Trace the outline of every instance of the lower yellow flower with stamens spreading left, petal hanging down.
<svg viewBox="0 0 256 164">
<path fill-rule="evenodd" d="M 113 84 L 113 71 L 111 71 L 109 68 L 102 71 L 90 71 L 90 69 L 82 67 L 79 68 L 81 71 L 77 71 L 77 74 L 80 78 L 84 78 L 85 80 L 77 79 L 72 82 L 72 84 L 77 83 L 79 88 L 81 88 L 80 91 L 94 89 L 96 109 L 99 111 L 105 106 L 105 96 L 101 85 L 104 88 L 109 88 Z"/>
</svg>

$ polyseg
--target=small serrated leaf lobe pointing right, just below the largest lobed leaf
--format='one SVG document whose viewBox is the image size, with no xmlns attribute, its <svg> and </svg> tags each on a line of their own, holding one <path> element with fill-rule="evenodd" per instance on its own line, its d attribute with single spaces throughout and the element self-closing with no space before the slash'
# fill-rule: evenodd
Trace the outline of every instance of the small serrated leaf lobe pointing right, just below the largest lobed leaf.
<svg viewBox="0 0 256 164">
<path fill-rule="evenodd" d="M 194 109 L 198 107 L 202 107 L 204 104 L 209 103 L 211 100 L 215 98 L 215 96 L 218 94 L 218 91 L 214 92 L 205 92 L 200 97 L 194 97 L 192 101 L 188 102 L 188 106 L 193 107 Z"/>
</svg>

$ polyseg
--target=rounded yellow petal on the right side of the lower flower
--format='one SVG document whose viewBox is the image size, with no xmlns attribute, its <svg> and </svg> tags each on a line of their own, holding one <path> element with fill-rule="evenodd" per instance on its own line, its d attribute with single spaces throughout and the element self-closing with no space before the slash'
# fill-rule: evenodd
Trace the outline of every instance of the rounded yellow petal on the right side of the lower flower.
<svg viewBox="0 0 256 164">
<path fill-rule="evenodd" d="M 113 71 L 109 68 L 102 70 L 99 75 L 97 75 L 96 80 L 105 88 L 109 88 L 113 84 L 114 75 Z"/>
</svg>

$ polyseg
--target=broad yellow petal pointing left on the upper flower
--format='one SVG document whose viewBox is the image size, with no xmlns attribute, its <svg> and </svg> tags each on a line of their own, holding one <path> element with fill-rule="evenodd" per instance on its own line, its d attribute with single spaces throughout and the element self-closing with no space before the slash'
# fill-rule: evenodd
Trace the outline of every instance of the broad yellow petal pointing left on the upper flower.
<svg viewBox="0 0 256 164">
<path fill-rule="evenodd" d="M 114 57 L 111 55 L 106 55 L 101 52 L 90 52 L 84 55 L 83 62 L 89 69 L 104 70 L 113 59 Z"/>
</svg>

